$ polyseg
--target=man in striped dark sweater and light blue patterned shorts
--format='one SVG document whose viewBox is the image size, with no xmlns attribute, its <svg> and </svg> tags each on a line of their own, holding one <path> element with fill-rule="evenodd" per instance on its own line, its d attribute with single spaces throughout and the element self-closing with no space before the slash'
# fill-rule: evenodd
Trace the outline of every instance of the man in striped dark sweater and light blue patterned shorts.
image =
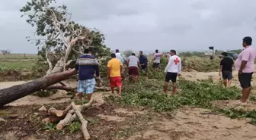
<svg viewBox="0 0 256 140">
<path fill-rule="evenodd" d="M 75 64 L 75 70 L 78 70 L 78 98 L 82 100 L 83 93 L 87 94 L 87 100 L 91 100 L 91 94 L 94 92 L 96 79 L 100 76 L 98 60 L 91 55 L 91 51 L 86 48 Z"/>
</svg>

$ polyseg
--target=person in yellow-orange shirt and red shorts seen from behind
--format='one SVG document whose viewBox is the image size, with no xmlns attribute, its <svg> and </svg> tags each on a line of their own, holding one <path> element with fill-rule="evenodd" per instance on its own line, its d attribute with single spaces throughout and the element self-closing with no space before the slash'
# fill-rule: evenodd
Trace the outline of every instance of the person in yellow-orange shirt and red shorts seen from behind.
<svg viewBox="0 0 256 140">
<path fill-rule="evenodd" d="M 119 88 L 119 96 L 121 97 L 122 92 L 122 79 L 121 73 L 123 70 L 122 62 L 116 58 L 116 54 L 111 54 L 111 60 L 107 63 L 107 78 L 110 79 L 110 88 L 114 93 L 114 88 Z"/>
</svg>

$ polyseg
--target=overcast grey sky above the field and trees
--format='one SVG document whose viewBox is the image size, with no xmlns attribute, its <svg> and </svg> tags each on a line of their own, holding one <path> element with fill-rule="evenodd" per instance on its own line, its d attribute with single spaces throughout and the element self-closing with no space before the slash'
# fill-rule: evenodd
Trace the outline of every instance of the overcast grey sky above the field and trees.
<svg viewBox="0 0 256 140">
<path fill-rule="evenodd" d="M 34 29 L 21 18 L 27 0 L 1 0 L 0 49 L 36 53 L 25 39 Z M 57 0 L 72 20 L 98 28 L 112 49 L 204 51 L 242 48 L 256 39 L 256 0 Z"/>
</svg>

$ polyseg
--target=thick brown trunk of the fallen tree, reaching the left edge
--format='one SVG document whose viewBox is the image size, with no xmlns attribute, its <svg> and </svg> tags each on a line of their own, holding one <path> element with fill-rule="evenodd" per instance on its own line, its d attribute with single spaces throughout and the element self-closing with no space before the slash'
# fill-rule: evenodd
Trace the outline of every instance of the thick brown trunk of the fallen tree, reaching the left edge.
<svg viewBox="0 0 256 140">
<path fill-rule="evenodd" d="M 34 92 L 40 91 L 41 89 L 46 89 L 48 86 L 56 84 L 64 79 L 69 79 L 76 73 L 75 69 L 67 70 L 62 73 L 54 73 L 44 76 L 40 79 L 35 79 L 31 82 L 26 82 L 21 85 L 11 86 L 6 89 L 0 90 L 0 107 L 5 104 L 11 103 L 11 101 L 18 100 L 24 96 L 30 95 Z"/>
</svg>

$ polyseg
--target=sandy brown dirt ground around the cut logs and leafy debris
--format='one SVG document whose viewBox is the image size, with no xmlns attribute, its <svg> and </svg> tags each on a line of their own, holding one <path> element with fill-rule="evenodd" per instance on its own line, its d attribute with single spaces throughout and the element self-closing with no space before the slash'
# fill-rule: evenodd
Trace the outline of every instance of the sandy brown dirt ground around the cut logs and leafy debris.
<svg viewBox="0 0 256 140">
<path fill-rule="evenodd" d="M 216 81 L 219 80 L 217 72 L 187 72 L 182 75 L 188 80 L 207 79 L 209 76 Z M 235 77 L 232 84 L 239 86 L 236 79 Z M 0 87 L 7 88 L 20 83 L 23 82 L 0 82 Z M 255 83 L 252 83 L 255 86 Z M 82 112 L 89 122 L 88 131 L 93 140 L 256 140 L 256 126 L 249 124 L 246 119 L 230 119 L 221 114 L 207 114 L 210 110 L 197 107 L 183 107 L 175 113 L 159 114 L 141 107 L 121 107 L 107 103 L 104 96 L 109 94 L 95 93 L 93 98 L 97 102 L 94 107 Z M 80 131 L 71 133 L 68 129 L 59 132 L 43 129 L 41 120 L 47 114 L 38 109 L 43 104 L 47 109 L 64 109 L 70 98 L 55 100 L 62 96 L 67 95 L 65 92 L 58 92 L 47 98 L 29 95 L 2 108 L 0 117 L 7 120 L 7 123 L 0 126 L 0 139 L 82 139 Z M 229 105 L 232 106 L 234 102 L 230 101 Z M 250 104 L 249 109 L 256 109 L 255 107 L 255 104 Z"/>
</svg>

